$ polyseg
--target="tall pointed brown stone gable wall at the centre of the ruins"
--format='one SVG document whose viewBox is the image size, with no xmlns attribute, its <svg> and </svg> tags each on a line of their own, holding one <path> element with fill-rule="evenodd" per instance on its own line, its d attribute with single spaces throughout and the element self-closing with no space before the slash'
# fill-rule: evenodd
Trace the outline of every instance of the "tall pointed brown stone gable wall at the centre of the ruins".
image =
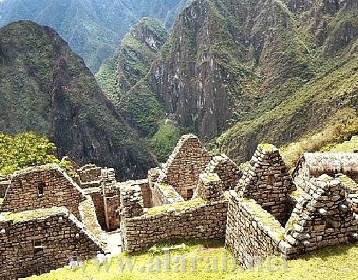
<svg viewBox="0 0 358 280">
<path fill-rule="evenodd" d="M 211 156 L 197 136 L 183 136 L 166 162 L 158 182 L 171 185 L 185 200 L 190 200 L 199 174 L 210 160 Z"/>
</svg>

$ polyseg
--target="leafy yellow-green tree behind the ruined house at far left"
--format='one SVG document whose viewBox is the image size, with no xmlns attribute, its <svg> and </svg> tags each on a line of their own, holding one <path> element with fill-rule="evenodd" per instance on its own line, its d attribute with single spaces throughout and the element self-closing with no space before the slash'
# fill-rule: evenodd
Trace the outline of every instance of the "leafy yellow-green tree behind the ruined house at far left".
<svg viewBox="0 0 358 280">
<path fill-rule="evenodd" d="M 10 175 L 18 169 L 48 163 L 59 164 L 63 169 L 70 167 L 66 160 L 54 155 L 56 147 L 48 138 L 32 132 L 10 136 L 0 133 L 0 175 Z"/>
</svg>

